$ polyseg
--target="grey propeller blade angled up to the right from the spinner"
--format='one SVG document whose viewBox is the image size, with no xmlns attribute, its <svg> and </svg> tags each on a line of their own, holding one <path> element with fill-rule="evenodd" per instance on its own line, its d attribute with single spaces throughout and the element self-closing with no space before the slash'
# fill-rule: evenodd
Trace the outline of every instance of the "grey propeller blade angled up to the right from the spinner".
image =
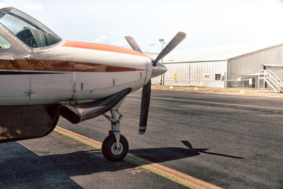
<svg viewBox="0 0 283 189">
<path fill-rule="evenodd" d="M 155 67 L 156 63 L 160 59 L 165 57 L 169 52 L 171 52 L 171 50 L 173 50 L 177 45 L 179 45 L 181 41 L 185 39 L 185 36 L 186 34 L 183 32 L 177 33 L 177 35 L 175 35 L 175 37 L 168 43 L 168 45 L 166 45 L 166 47 L 159 53 L 158 57 L 156 57 L 152 65 Z"/>
</svg>

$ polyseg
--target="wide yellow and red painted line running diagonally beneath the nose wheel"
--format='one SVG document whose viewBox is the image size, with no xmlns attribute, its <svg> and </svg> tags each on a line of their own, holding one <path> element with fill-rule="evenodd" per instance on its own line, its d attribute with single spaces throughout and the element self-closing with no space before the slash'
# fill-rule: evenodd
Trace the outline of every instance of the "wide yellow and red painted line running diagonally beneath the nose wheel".
<svg viewBox="0 0 283 189">
<path fill-rule="evenodd" d="M 82 142 L 83 144 L 94 147 L 95 149 L 101 149 L 101 146 L 102 146 L 101 142 L 97 142 L 94 139 L 84 137 L 81 134 L 76 134 L 75 132 L 65 130 L 62 127 L 58 127 L 58 126 L 55 127 L 54 131 L 59 132 L 60 134 L 63 134 L 67 137 L 71 137 L 72 139 L 75 139 L 79 142 Z M 148 161 L 146 159 L 142 159 L 138 156 L 134 156 L 134 154 L 130 154 L 130 153 L 127 154 L 127 156 L 125 157 L 124 160 L 128 161 L 131 164 L 134 164 L 134 165 L 140 166 L 141 168 L 149 170 L 153 173 L 156 173 L 159 176 L 163 176 L 164 178 L 168 178 L 171 181 L 185 185 L 189 188 L 209 188 L 209 189 L 219 188 L 219 187 L 212 185 L 210 183 L 206 183 L 206 182 L 201 181 L 197 178 L 193 178 L 192 176 L 188 176 L 188 175 L 181 173 L 179 171 L 175 171 L 172 168 L 168 168 L 166 166 L 161 166 L 160 164 L 156 164 L 156 163 Z"/>
</svg>

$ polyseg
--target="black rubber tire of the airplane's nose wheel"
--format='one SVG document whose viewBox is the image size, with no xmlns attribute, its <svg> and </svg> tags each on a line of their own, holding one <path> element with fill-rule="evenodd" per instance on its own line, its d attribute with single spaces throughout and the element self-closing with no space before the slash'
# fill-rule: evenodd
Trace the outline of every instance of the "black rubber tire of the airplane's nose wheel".
<svg viewBox="0 0 283 189">
<path fill-rule="evenodd" d="M 120 149 L 117 149 L 117 142 L 114 135 L 106 137 L 102 144 L 102 154 L 108 161 L 121 161 L 129 151 L 127 139 L 120 134 Z"/>
</svg>

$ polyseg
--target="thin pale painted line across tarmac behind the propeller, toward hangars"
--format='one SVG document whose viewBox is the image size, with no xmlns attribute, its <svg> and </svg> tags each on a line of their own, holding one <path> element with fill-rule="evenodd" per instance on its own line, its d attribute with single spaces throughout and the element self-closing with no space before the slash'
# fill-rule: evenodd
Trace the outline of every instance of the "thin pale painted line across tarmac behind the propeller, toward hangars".
<svg viewBox="0 0 283 189">
<path fill-rule="evenodd" d="M 140 96 L 135 96 L 135 95 L 128 95 L 128 96 L 141 98 Z M 194 101 L 194 100 L 187 100 L 187 99 L 176 99 L 176 98 L 165 98 L 165 97 L 151 97 L 151 99 L 195 102 L 195 103 L 209 103 L 209 104 L 217 104 L 217 105 L 233 105 L 233 106 L 239 106 L 239 107 L 262 108 L 262 109 L 269 109 L 269 110 L 283 110 L 283 108 L 272 108 L 272 107 L 257 106 L 257 105 L 243 105 L 243 104 L 235 104 L 235 103 L 215 103 L 215 102 L 209 102 L 209 101 Z"/>
</svg>

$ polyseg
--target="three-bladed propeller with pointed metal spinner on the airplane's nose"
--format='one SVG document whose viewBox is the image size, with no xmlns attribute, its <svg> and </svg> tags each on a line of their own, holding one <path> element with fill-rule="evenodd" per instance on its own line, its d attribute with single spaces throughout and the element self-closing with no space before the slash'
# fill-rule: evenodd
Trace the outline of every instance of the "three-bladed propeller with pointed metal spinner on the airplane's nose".
<svg viewBox="0 0 283 189">
<path fill-rule="evenodd" d="M 167 69 L 164 67 L 161 63 L 158 61 L 168 55 L 171 50 L 173 50 L 183 39 L 185 39 L 186 34 L 183 32 L 177 33 L 175 37 L 166 45 L 166 47 L 159 53 L 159 55 L 156 57 L 156 59 L 152 59 L 153 63 L 152 65 L 153 70 L 156 68 L 156 74 L 154 76 L 158 76 L 160 74 L 163 74 Z M 133 50 L 137 50 L 138 52 L 141 52 L 141 48 L 139 48 L 139 45 L 137 45 L 137 42 L 132 38 L 131 36 L 125 36 L 125 39 L 129 43 L 129 45 L 132 47 Z M 142 53 L 142 52 L 141 52 Z M 159 69 L 159 70 L 158 70 Z M 151 74 L 152 77 L 153 74 Z M 149 83 L 144 85 L 142 88 L 141 93 L 141 112 L 139 115 L 139 134 L 144 134 L 146 132 L 146 125 L 147 125 L 147 118 L 149 115 L 149 102 L 150 102 L 150 96 L 151 96 L 151 80 L 149 80 Z"/>
</svg>

